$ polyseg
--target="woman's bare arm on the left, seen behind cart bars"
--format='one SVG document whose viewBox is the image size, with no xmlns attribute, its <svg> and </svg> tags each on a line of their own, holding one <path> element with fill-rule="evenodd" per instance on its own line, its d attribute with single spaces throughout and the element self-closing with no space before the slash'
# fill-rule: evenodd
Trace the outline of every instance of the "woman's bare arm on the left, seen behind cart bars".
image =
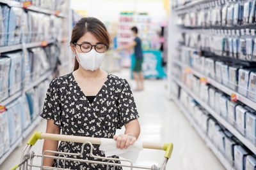
<svg viewBox="0 0 256 170">
<path fill-rule="evenodd" d="M 54 125 L 53 120 L 47 120 L 47 127 L 46 127 L 46 132 L 51 133 L 51 134 L 60 134 L 60 127 L 58 125 Z M 52 140 L 44 140 L 44 146 L 43 146 L 43 152 L 44 150 L 52 150 L 52 151 L 57 151 L 58 149 L 58 141 L 52 141 Z M 55 156 L 56 154 L 54 153 L 45 153 L 45 155 L 51 155 Z M 52 166 L 54 159 L 50 158 L 44 158 L 44 166 Z"/>
</svg>

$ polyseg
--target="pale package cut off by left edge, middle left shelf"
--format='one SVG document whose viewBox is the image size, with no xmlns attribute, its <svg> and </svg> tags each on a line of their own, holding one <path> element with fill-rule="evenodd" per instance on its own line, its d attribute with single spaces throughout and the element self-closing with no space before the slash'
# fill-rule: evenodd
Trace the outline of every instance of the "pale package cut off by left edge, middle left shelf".
<svg viewBox="0 0 256 170">
<path fill-rule="evenodd" d="M 9 57 L 0 57 L 0 101 L 8 97 L 10 64 Z"/>
</svg>

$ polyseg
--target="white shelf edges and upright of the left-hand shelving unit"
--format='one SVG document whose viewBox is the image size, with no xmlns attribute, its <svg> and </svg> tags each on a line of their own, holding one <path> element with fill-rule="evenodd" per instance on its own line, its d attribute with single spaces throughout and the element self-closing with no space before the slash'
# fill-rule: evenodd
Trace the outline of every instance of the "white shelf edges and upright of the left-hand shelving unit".
<svg viewBox="0 0 256 170">
<path fill-rule="evenodd" d="M 65 36 L 68 36 L 68 39 L 69 39 L 71 37 L 71 33 L 72 33 L 72 11 L 70 9 L 70 0 L 67 0 L 67 1 L 68 1 L 68 3 L 67 3 L 68 13 L 60 13 L 60 11 L 58 11 L 58 10 L 56 10 L 56 11 L 47 10 L 44 8 L 40 8 L 38 6 L 33 6 L 33 4 L 25 9 L 35 11 L 37 13 L 44 13 L 47 15 L 55 15 L 56 17 L 65 18 L 67 20 L 67 22 L 65 22 L 65 23 L 67 24 L 67 27 L 68 27 L 67 35 L 65 35 Z M 23 3 L 13 1 L 13 0 L 12 1 L 11 0 L 0 0 L 0 3 L 7 4 L 10 7 L 24 8 Z M 47 45 L 54 43 L 56 41 L 56 39 L 50 39 L 50 40 L 44 39 L 44 40 L 46 40 Z M 58 41 L 62 41 L 62 40 L 63 39 L 58 39 Z M 66 42 L 68 42 L 68 41 L 66 41 Z M 12 46 L 0 46 L 0 53 L 12 52 L 15 50 L 26 50 L 27 48 L 34 48 L 34 47 L 41 46 L 41 45 L 42 45 L 42 41 L 32 42 L 32 43 L 20 43 L 18 45 L 12 45 Z M 26 52 L 24 52 L 24 53 L 26 53 Z M 70 50 L 70 52 L 68 52 L 68 55 L 72 56 L 71 50 Z M 70 64 L 70 63 L 68 63 L 68 61 L 67 61 L 65 63 L 65 66 L 68 66 L 68 64 Z M 51 76 L 51 74 L 52 74 L 52 71 L 47 71 L 43 76 L 40 76 L 40 78 L 38 80 L 31 83 L 28 87 L 25 87 L 24 89 L 20 90 L 16 94 L 13 94 L 13 96 L 8 97 L 4 101 L 0 101 L 0 105 L 6 106 L 8 103 L 10 103 L 13 100 L 17 99 L 18 97 L 24 95 L 23 92 L 26 92 L 27 90 L 32 89 L 33 87 L 36 87 L 42 81 L 49 78 Z M 31 122 L 29 127 L 25 131 L 22 132 L 20 138 L 17 139 L 17 141 L 10 147 L 8 152 L 4 153 L 4 155 L 0 158 L 0 165 L 4 162 L 4 160 L 6 160 L 8 158 L 8 156 L 13 152 L 13 150 L 15 150 L 15 148 L 17 148 L 17 146 L 21 145 L 22 140 L 28 137 L 28 135 L 31 133 L 31 131 L 33 131 L 33 129 L 36 127 L 36 125 L 38 125 L 41 122 L 41 120 L 42 120 L 42 118 L 38 115 L 38 117 L 35 120 L 33 120 L 33 122 Z"/>
</svg>

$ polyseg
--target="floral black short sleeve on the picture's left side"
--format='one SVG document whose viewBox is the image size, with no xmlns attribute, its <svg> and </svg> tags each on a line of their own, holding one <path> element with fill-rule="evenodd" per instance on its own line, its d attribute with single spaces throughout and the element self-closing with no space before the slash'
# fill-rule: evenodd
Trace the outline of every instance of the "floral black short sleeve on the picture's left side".
<svg viewBox="0 0 256 170">
<path fill-rule="evenodd" d="M 60 126 L 61 113 L 60 94 L 57 80 L 54 79 L 47 90 L 44 107 L 41 114 L 42 118 L 54 120 L 54 124 Z"/>
</svg>

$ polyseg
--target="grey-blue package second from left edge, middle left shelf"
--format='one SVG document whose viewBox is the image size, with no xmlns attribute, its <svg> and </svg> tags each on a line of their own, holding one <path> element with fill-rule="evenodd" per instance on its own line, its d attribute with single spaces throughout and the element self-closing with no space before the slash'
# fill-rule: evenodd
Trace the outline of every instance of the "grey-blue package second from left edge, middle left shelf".
<svg viewBox="0 0 256 170">
<path fill-rule="evenodd" d="M 6 56 L 11 59 L 11 67 L 9 72 L 9 89 L 10 96 L 21 89 L 21 52 L 8 53 Z"/>
</svg>

